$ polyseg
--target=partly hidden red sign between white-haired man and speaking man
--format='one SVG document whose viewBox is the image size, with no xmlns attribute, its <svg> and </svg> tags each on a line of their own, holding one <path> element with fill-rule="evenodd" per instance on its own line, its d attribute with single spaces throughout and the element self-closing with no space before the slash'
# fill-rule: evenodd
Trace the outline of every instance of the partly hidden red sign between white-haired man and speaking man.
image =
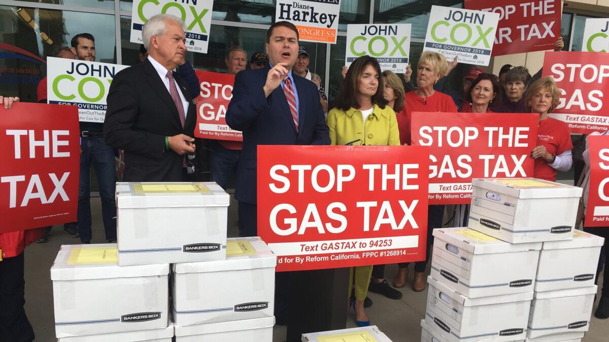
<svg viewBox="0 0 609 342">
<path fill-rule="evenodd" d="M 197 97 L 197 138 L 243 141 L 240 131 L 227 125 L 228 103 L 233 98 L 234 75 L 196 70 L 200 94 Z"/>
</svg>

